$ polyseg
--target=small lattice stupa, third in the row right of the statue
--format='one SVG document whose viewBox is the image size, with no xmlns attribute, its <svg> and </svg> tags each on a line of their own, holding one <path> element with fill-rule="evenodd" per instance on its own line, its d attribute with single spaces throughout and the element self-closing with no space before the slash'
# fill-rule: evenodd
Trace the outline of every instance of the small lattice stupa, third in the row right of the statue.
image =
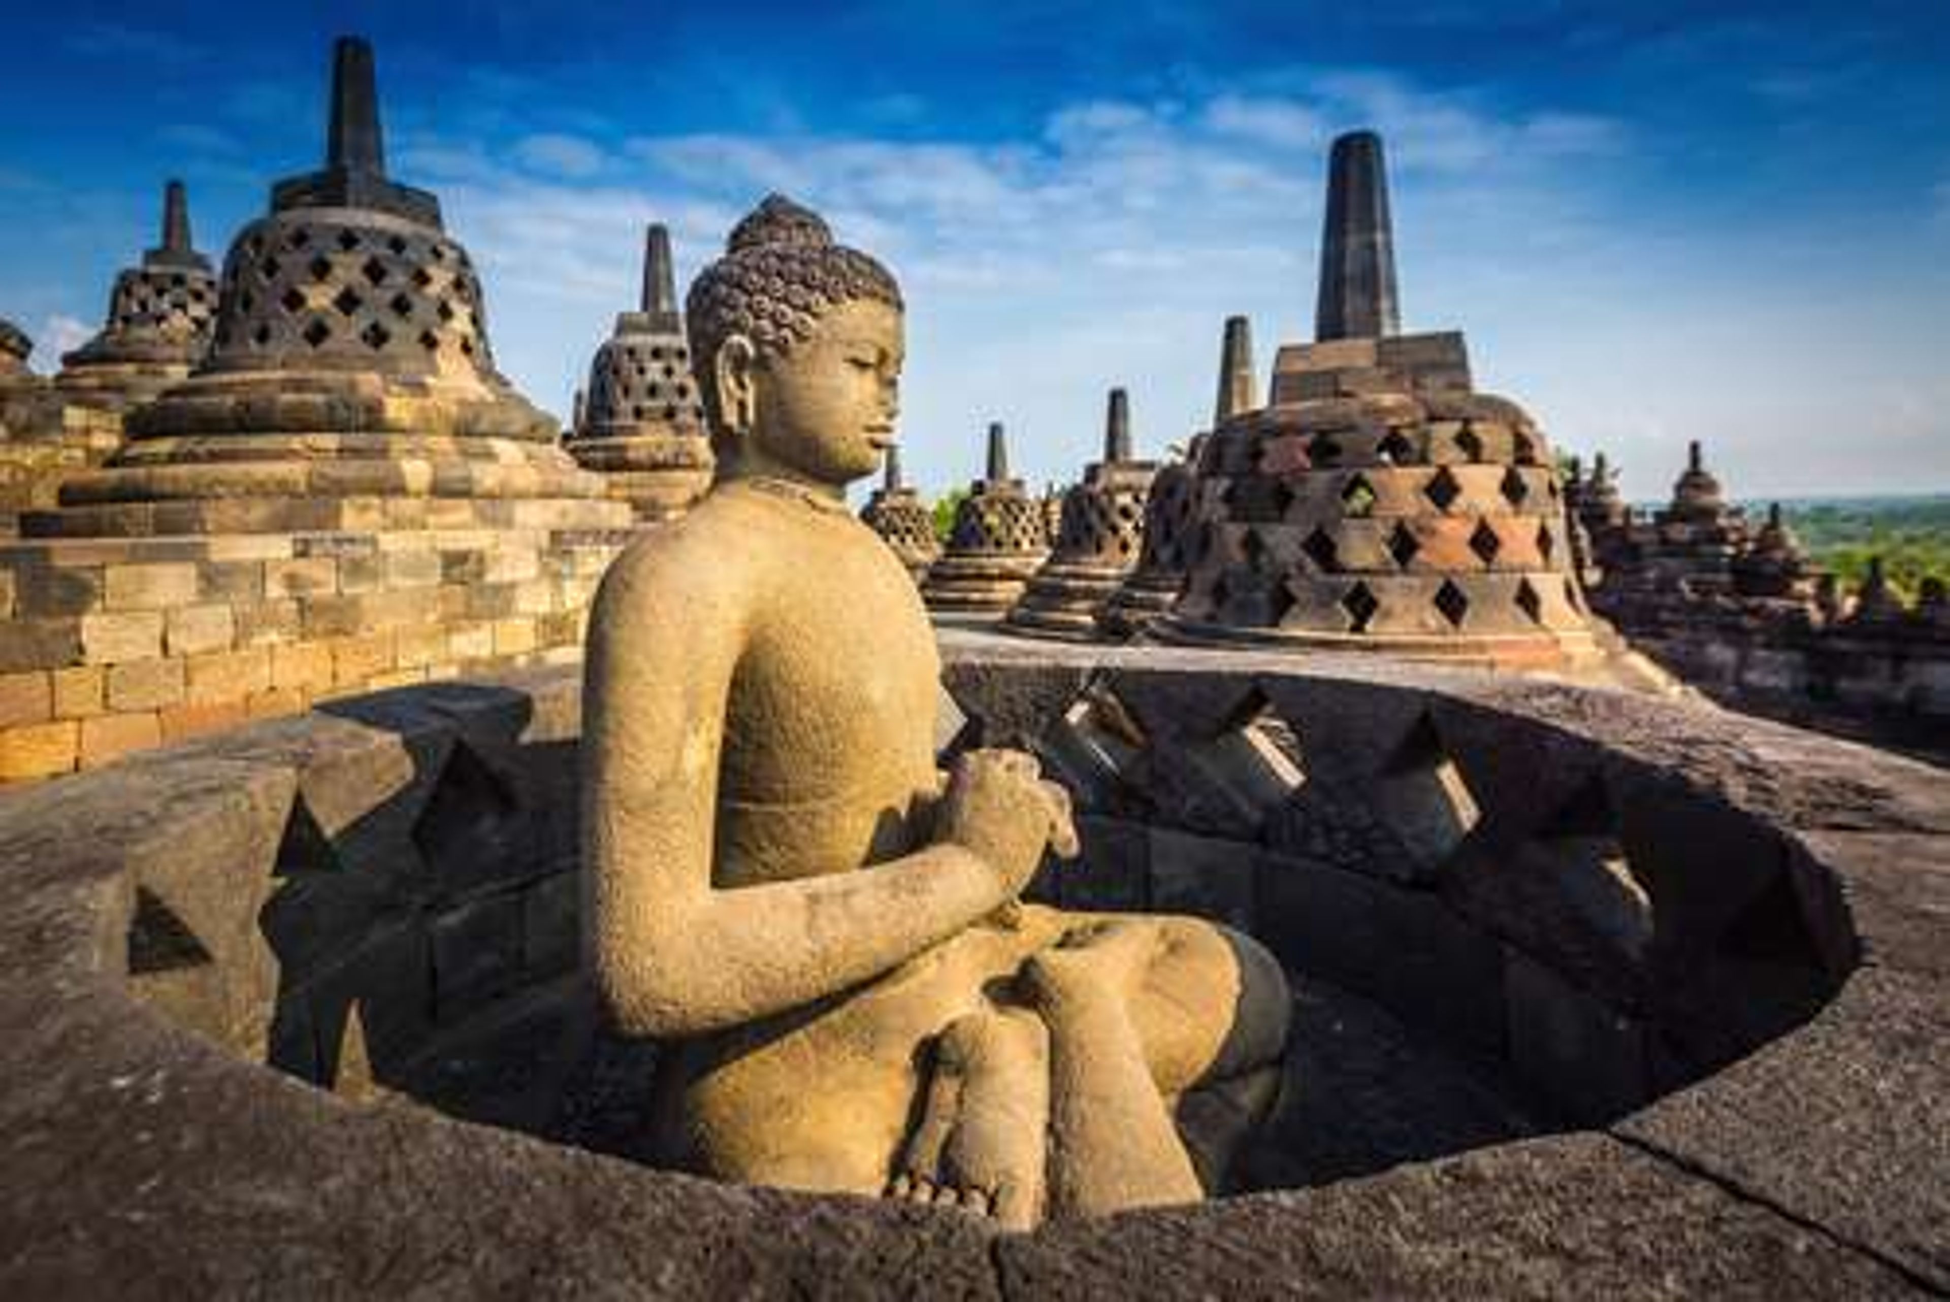
<svg viewBox="0 0 1950 1302">
<path fill-rule="evenodd" d="M 1094 641 L 1096 616 L 1137 565 L 1145 540 L 1145 501 L 1156 462 L 1131 454 L 1131 400 L 1110 392 L 1104 460 L 1063 495 L 1057 546 L 1010 608 L 1004 628 L 1032 637 Z"/>
</svg>

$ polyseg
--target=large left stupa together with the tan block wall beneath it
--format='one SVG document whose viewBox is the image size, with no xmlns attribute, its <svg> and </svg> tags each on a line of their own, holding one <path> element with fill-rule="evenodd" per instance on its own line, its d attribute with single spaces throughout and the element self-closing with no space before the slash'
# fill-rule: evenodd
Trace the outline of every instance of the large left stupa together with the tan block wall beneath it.
<svg viewBox="0 0 1950 1302">
<path fill-rule="evenodd" d="M 345 692 L 579 655 L 630 509 L 495 368 L 339 41 L 324 170 L 224 261 L 213 349 L 0 548 L 0 780 Z"/>
</svg>

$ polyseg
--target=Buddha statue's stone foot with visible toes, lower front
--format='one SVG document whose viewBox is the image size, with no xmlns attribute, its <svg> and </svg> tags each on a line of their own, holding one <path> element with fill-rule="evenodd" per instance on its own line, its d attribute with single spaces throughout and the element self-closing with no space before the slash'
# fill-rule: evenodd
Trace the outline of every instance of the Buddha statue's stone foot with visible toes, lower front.
<svg viewBox="0 0 1950 1302">
<path fill-rule="evenodd" d="M 1020 1008 L 967 1014 L 936 1037 L 920 1125 L 887 1197 L 1030 1230 L 1043 1210 L 1049 1035 Z"/>
</svg>

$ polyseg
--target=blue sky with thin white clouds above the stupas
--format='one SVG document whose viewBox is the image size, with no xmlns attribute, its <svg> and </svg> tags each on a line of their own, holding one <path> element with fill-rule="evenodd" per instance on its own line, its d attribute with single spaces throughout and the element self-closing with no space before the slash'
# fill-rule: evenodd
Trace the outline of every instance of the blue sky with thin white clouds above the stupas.
<svg viewBox="0 0 1950 1302">
<path fill-rule="evenodd" d="M 813 10 L 821 12 L 813 12 Z M 322 152 L 372 37 L 392 170 L 435 189 L 501 368 L 566 411 L 642 224 L 688 277 L 764 191 L 909 298 L 907 464 L 1004 419 L 1069 479 L 1131 390 L 1209 415 L 1221 322 L 1310 333 L 1326 142 L 1388 140 L 1404 324 L 1663 495 L 1950 489 L 1950 4 L 35 6 L 0 55 L 0 316 L 55 364 L 189 181 L 220 255 Z"/>
</svg>

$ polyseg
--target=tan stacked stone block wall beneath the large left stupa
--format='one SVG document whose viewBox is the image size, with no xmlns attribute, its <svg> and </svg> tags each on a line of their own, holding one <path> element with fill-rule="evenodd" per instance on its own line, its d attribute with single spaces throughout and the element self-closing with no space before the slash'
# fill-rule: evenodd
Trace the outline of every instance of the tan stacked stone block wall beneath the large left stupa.
<svg viewBox="0 0 1950 1302">
<path fill-rule="evenodd" d="M 573 661 L 624 530 L 468 528 L 0 548 L 0 782 L 335 696 Z"/>
</svg>

